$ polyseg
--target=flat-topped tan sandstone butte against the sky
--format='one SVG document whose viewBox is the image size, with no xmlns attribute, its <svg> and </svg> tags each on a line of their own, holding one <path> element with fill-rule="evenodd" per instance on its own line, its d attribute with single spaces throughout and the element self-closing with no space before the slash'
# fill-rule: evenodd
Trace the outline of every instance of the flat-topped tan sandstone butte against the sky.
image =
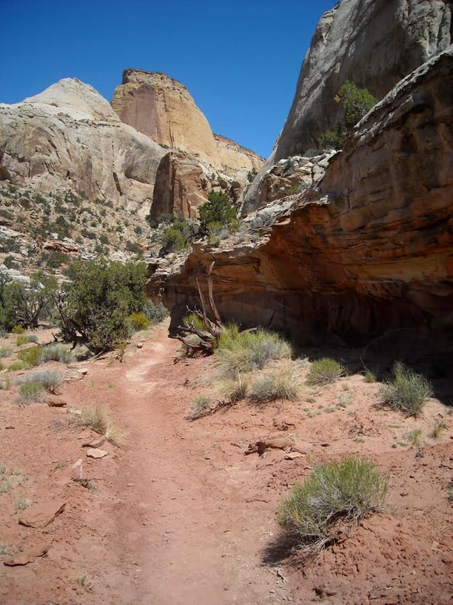
<svg viewBox="0 0 453 605">
<path fill-rule="evenodd" d="M 253 151 L 213 135 L 189 91 L 165 74 L 125 69 L 112 107 L 125 124 L 158 144 L 187 151 L 216 170 L 227 168 L 247 176 L 263 163 Z"/>
</svg>

